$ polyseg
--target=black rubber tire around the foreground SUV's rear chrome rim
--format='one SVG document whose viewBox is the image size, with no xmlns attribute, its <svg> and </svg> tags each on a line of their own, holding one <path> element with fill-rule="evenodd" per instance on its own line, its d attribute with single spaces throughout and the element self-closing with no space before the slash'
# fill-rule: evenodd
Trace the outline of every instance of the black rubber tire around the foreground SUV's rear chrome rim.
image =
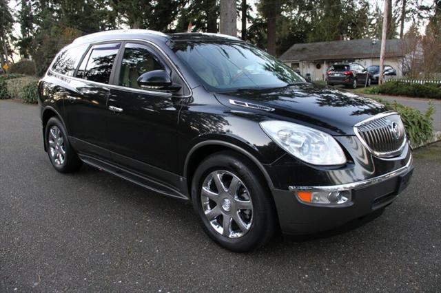
<svg viewBox="0 0 441 293">
<path fill-rule="evenodd" d="M 65 155 L 63 155 L 63 162 L 61 162 L 58 157 L 54 158 L 54 156 L 52 156 L 50 140 L 51 142 L 54 142 L 54 136 L 50 134 L 51 129 L 59 129 L 58 135 L 60 138 L 62 138 L 62 146 L 57 145 L 54 146 L 52 149 L 54 149 L 54 151 L 57 151 L 58 149 L 61 151 L 61 148 L 63 148 L 63 151 L 65 153 Z M 55 170 L 59 171 L 60 173 L 71 173 L 78 171 L 81 168 L 82 162 L 74 149 L 72 149 L 72 146 L 70 145 L 68 140 L 68 135 L 66 134 L 65 128 L 63 127 L 63 123 L 61 123 L 58 118 L 52 117 L 46 124 L 44 132 L 44 142 L 46 150 L 48 151 L 49 160 L 52 163 L 52 166 L 54 166 Z"/>
</svg>

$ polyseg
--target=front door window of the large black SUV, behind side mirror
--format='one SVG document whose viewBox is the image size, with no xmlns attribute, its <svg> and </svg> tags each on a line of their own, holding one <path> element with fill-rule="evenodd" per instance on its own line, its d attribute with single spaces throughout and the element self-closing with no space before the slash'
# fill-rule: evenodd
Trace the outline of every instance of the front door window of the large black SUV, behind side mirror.
<svg viewBox="0 0 441 293">
<path fill-rule="evenodd" d="M 141 89 L 136 80 L 145 72 L 164 69 L 161 61 L 144 45 L 126 44 L 121 71 L 119 73 L 119 85 Z"/>
</svg>

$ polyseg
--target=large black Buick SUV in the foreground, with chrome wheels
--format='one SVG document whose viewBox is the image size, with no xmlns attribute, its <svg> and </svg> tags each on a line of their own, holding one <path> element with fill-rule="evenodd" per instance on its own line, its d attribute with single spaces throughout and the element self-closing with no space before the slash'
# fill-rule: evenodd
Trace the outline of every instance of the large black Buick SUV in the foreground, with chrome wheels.
<svg viewBox="0 0 441 293">
<path fill-rule="evenodd" d="M 397 113 L 307 83 L 230 36 L 83 36 L 54 58 L 39 96 L 57 171 L 85 163 L 192 202 L 230 250 L 380 210 L 411 175 Z"/>
</svg>

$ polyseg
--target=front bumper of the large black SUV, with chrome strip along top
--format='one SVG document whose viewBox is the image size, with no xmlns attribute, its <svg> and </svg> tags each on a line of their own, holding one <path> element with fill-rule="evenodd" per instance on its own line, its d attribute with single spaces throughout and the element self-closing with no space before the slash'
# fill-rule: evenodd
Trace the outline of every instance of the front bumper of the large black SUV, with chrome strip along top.
<svg viewBox="0 0 441 293">
<path fill-rule="evenodd" d="M 331 230 L 358 219 L 393 202 L 409 184 L 413 172 L 412 159 L 400 169 L 378 177 L 334 186 L 289 186 L 289 191 L 274 189 L 280 228 L 285 234 L 305 235 Z M 351 202 L 319 205 L 301 202 L 297 191 L 350 191 Z"/>
</svg>

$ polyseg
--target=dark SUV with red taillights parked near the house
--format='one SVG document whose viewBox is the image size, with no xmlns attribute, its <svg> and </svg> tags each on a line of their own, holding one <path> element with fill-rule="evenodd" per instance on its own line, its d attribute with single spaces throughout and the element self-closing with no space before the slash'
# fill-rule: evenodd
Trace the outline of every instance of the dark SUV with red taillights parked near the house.
<svg viewBox="0 0 441 293">
<path fill-rule="evenodd" d="M 371 75 L 359 63 L 338 63 L 327 69 L 327 85 L 345 85 L 356 89 L 359 85 L 371 85 Z"/>
</svg>

